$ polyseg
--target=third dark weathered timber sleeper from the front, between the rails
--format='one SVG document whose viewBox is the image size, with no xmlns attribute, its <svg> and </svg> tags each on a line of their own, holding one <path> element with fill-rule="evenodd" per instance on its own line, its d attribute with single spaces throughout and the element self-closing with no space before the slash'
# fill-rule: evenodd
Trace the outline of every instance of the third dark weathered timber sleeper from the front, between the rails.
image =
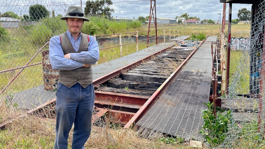
<svg viewBox="0 0 265 149">
<path fill-rule="evenodd" d="M 131 80 L 131 81 L 136 81 L 136 82 L 146 81 L 146 82 L 164 83 L 164 81 L 167 80 L 168 77 L 159 76 L 159 75 L 125 73 L 125 74 L 121 74 L 120 78 L 122 80 Z"/>
</svg>

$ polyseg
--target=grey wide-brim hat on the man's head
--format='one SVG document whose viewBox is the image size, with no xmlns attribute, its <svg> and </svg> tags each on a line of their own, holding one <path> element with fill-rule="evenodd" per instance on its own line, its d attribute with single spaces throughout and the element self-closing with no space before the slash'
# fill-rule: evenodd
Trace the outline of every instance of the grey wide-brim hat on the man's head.
<svg viewBox="0 0 265 149">
<path fill-rule="evenodd" d="M 78 13 L 82 14 L 83 16 L 79 16 Z M 84 21 L 89 21 L 89 19 L 84 17 L 83 9 L 80 6 L 70 6 L 67 10 L 65 17 L 62 17 L 61 20 L 65 20 L 65 18 L 82 18 L 84 19 Z"/>
</svg>

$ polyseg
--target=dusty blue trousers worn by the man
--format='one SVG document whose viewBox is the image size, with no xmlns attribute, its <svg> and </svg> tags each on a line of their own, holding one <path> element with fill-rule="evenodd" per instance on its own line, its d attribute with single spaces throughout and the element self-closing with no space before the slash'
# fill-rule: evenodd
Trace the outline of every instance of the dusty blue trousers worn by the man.
<svg viewBox="0 0 265 149">
<path fill-rule="evenodd" d="M 67 149 L 69 131 L 73 128 L 72 149 L 84 149 L 90 136 L 95 92 L 93 84 L 71 88 L 59 83 L 56 91 L 56 139 L 54 149 Z"/>
</svg>

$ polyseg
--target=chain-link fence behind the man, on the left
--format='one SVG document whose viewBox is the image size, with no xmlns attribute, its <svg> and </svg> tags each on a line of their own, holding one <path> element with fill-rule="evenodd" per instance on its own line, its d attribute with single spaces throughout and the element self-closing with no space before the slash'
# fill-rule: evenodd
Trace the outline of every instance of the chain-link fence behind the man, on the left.
<svg viewBox="0 0 265 149">
<path fill-rule="evenodd" d="M 55 18 L 68 7 L 63 2 L 1 1 L 0 92 L 6 103 L 31 109 L 55 97 L 45 90 L 45 83 L 51 85 L 55 78 L 42 65 L 42 51 L 48 50 L 45 43 L 51 37 L 66 30 L 65 22 Z"/>
</svg>

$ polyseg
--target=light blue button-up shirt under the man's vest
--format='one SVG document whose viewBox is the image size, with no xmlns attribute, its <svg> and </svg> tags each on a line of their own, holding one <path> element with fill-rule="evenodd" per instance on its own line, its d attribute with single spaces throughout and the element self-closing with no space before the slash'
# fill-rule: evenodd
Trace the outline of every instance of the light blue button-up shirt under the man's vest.
<svg viewBox="0 0 265 149">
<path fill-rule="evenodd" d="M 74 39 L 72 34 L 67 30 L 73 48 L 78 51 L 81 42 L 81 34 Z M 99 58 L 99 48 L 95 37 L 89 35 L 88 51 L 80 53 L 70 53 L 71 59 L 64 58 L 64 53 L 61 47 L 60 36 L 54 36 L 49 41 L 49 59 L 54 70 L 74 70 L 83 67 L 83 64 L 94 65 Z"/>
</svg>

